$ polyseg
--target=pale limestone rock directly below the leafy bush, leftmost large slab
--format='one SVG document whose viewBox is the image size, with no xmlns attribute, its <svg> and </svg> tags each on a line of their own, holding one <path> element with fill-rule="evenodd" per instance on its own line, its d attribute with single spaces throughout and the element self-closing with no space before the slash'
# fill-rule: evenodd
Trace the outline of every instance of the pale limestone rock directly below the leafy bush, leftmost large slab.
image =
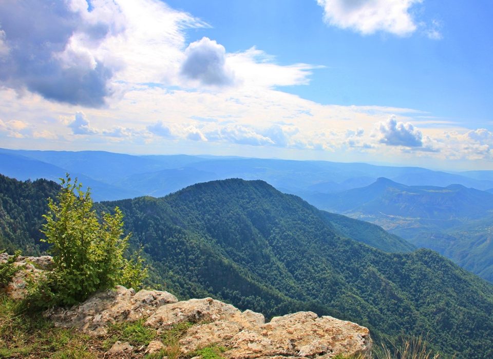
<svg viewBox="0 0 493 359">
<path fill-rule="evenodd" d="M 176 302 L 177 298 L 168 292 L 141 290 L 136 293 L 133 289 L 117 286 L 96 293 L 70 309 L 56 308 L 45 314 L 55 326 L 77 328 L 89 335 L 104 335 L 108 324 L 134 322 L 149 316 L 164 304 Z"/>
</svg>

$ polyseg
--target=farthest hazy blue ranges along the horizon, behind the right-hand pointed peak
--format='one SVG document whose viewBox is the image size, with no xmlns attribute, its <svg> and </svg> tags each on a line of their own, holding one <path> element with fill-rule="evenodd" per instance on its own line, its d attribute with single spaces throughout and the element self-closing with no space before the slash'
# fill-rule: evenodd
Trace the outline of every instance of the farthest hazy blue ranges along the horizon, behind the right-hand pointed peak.
<svg viewBox="0 0 493 359">
<path fill-rule="evenodd" d="M 104 151 L 28 151 L 0 149 L 10 160 L 0 173 L 17 179 L 63 177 L 66 172 L 92 188 L 98 200 L 139 195 L 165 195 L 203 181 L 225 178 L 261 179 L 283 192 L 304 198 L 367 186 L 378 177 L 405 185 L 460 184 L 480 190 L 493 188 L 488 171 L 446 173 L 420 167 L 375 166 L 365 163 L 291 161 L 231 156 L 128 155 Z M 12 157 L 13 156 L 13 157 Z M 35 162 L 15 165 L 22 156 Z"/>
</svg>

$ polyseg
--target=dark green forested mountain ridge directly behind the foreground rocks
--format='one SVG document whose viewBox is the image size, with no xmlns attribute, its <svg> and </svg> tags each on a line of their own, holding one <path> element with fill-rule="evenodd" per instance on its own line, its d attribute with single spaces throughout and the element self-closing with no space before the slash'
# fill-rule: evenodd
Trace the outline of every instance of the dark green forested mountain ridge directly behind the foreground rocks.
<svg viewBox="0 0 493 359">
<path fill-rule="evenodd" d="M 98 204 L 115 206 L 151 279 L 182 298 L 210 295 L 267 316 L 313 310 L 368 326 L 377 340 L 428 333 L 442 352 L 493 355 L 491 285 L 429 250 L 387 253 L 346 238 L 352 220 L 336 223 L 265 182 Z"/>
</svg>

